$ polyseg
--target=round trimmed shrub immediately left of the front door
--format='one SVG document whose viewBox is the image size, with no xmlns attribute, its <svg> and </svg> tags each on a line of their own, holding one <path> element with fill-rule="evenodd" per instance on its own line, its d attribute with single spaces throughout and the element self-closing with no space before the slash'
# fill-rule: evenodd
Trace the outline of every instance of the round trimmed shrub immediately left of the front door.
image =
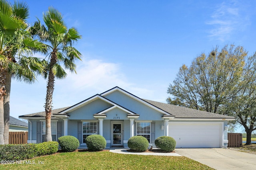
<svg viewBox="0 0 256 170">
<path fill-rule="evenodd" d="M 99 151 L 106 148 L 106 139 L 101 135 L 90 135 L 86 137 L 85 143 L 87 148 L 92 151 Z"/>
</svg>

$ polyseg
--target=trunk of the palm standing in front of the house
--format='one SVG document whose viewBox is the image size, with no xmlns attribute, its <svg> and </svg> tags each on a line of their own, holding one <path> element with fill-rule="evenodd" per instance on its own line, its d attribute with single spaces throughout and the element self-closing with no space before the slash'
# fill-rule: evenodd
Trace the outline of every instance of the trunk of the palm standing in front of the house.
<svg viewBox="0 0 256 170">
<path fill-rule="evenodd" d="M 51 114 L 52 114 L 52 95 L 54 90 L 54 74 L 52 68 L 57 62 L 56 53 L 52 52 L 50 60 L 50 69 L 48 75 L 48 84 L 46 90 L 46 103 L 45 103 L 45 122 L 46 122 L 46 141 L 52 141 L 52 131 L 51 131 Z"/>
</svg>

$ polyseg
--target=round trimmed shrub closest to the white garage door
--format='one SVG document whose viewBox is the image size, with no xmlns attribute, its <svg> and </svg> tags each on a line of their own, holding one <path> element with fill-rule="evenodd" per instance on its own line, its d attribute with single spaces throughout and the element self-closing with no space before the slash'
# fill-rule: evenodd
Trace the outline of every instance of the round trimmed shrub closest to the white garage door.
<svg viewBox="0 0 256 170">
<path fill-rule="evenodd" d="M 155 140 L 156 147 L 166 152 L 172 152 L 176 147 L 176 141 L 172 137 L 161 136 Z"/>
</svg>

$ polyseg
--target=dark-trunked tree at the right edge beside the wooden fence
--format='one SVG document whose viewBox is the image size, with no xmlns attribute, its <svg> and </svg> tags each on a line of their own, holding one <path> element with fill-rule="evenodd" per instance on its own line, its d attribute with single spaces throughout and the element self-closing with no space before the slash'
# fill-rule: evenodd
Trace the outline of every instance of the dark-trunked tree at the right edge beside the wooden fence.
<svg viewBox="0 0 256 170">
<path fill-rule="evenodd" d="M 252 131 L 256 130 L 256 53 L 248 57 L 238 82 L 239 91 L 222 107 L 222 113 L 236 117 L 246 131 L 246 145 L 251 144 Z"/>
</svg>

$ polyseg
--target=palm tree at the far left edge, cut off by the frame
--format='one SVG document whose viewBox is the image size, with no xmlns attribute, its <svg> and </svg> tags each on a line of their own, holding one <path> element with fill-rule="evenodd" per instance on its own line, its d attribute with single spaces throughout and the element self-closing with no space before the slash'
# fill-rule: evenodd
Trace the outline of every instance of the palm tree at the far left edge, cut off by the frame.
<svg viewBox="0 0 256 170">
<path fill-rule="evenodd" d="M 0 0 L 0 144 L 9 143 L 10 84 L 11 78 L 33 82 L 35 71 L 43 72 L 42 62 L 32 55 L 45 49 L 45 45 L 33 40 L 26 30 L 28 6 Z M 16 56 L 18 54 L 18 56 Z M 25 61 L 25 62 L 24 62 Z"/>
</svg>

